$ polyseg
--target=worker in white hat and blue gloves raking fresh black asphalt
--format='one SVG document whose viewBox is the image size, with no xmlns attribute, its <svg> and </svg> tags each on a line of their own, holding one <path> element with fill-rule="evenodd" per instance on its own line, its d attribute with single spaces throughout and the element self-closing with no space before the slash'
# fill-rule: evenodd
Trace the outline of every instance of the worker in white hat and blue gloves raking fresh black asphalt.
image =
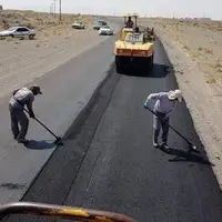
<svg viewBox="0 0 222 222">
<path fill-rule="evenodd" d="M 169 149 L 168 145 L 168 134 L 169 134 L 169 123 L 170 114 L 175 108 L 176 102 L 182 101 L 182 94 L 180 90 L 174 90 L 170 92 L 159 92 L 159 93 L 151 93 L 145 102 L 144 108 L 149 107 L 151 100 L 157 100 L 154 104 L 154 112 L 160 117 L 160 120 L 157 115 L 153 114 L 153 147 L 158 148 L 158 138 L 160 134 L 160 129 L 162 128 L 162 144 L 161 147 L 164 149 Z"/>
</svg>

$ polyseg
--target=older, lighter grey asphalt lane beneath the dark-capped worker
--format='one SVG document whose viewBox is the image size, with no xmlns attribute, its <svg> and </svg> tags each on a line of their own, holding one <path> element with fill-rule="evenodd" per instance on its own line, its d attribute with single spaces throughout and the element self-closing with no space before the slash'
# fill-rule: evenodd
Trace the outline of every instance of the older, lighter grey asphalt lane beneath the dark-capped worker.
<svg viewBox="0 0 222 222">
<path fill-rule="evenodd" d="M 36 115 L 58 135 L 67 132 L 107 77 L 115 37 L 101 38 L 102 43 L 32 82 L 43 92 L 33 103 Z M 20 200 L 56 149 L 54 138 L 34 120 L 30 120 L 27 148 L 13 140 L 10 97 L 0 100 L 0 204 Z"/>
</svg>

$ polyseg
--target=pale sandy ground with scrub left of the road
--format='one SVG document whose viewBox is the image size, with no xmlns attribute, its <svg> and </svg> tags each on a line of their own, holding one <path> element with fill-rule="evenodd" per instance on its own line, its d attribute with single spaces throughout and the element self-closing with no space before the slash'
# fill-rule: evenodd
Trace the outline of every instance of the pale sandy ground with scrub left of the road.
<svg viewBox="0 0 222 222">
<path fill-rule="evenodd" d="M 32 11 L 7 11 L 0 16 L 1 26 L 24 23 L 38 31 L 34 40 L 0 40 L 0 97 L 11 93 L 14 88 L 27 84 L 107 38 L 100 37 L 92 29 L 91 17 L 63 14 L 62 18 L 62 22 L 58 23 L 51 14 Z M 85 30 L 70 27 L 78 19 L 87 23 Z"/>
</svg>

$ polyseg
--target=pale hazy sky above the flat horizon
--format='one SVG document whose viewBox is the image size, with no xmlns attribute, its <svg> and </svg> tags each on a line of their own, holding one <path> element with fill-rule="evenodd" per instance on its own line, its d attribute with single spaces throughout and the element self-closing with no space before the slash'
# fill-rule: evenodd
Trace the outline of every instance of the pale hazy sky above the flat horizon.
<svg viewBox="0 0 222 222">
<path fill-rule="evenodd" d="M 59 0 L 57 0 L 59 1 Z M 1 0 L 8 9 L 49 11 L 53 0 Z M 151 17 L 211 17 L 222 20 L 222 0 L 62 0 L 62 10 L 68 13 L 125 13 L 138 12 Z"/>
</svg>

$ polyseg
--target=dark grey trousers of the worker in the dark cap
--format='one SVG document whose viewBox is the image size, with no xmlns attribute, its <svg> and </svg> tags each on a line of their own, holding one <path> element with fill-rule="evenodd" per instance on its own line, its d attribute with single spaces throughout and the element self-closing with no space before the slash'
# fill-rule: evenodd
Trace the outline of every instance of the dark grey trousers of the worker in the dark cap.
<svg viewBox="0 0 222 222">
<path fill-rule="evenodd" d="M 17 107 L 14 108 L 11 104 L 9 104 L 9 111 L 11 117 L 11 131 L 14 139 L 24 139 L 29 128 L 29 119 L 22 109 L 18 109 Z"/>
</svg>

